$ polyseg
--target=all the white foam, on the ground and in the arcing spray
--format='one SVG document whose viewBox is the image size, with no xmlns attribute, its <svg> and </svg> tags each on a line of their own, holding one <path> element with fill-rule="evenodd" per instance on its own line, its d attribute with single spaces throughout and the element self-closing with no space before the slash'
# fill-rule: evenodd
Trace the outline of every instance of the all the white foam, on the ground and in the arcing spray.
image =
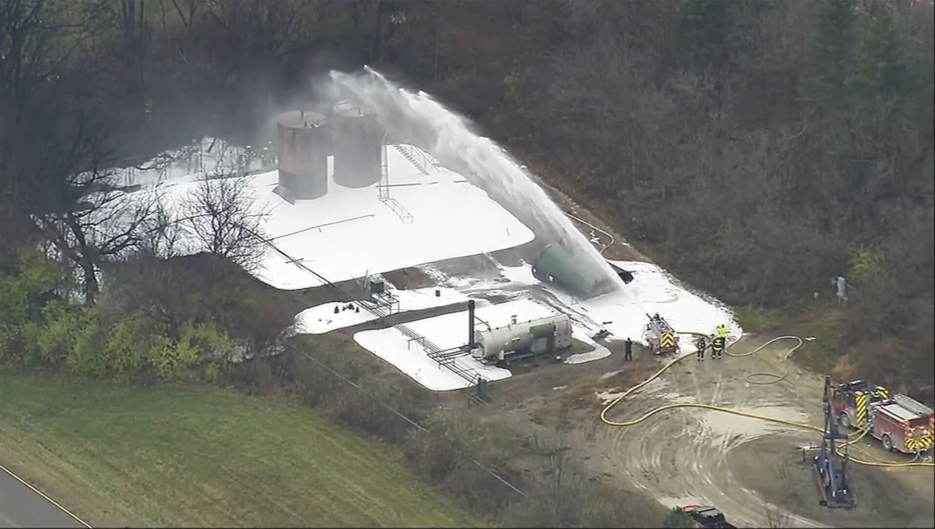
<svg viewBox="0 0 935 529">
<path fill-rule="evenodd" d="M 383 82 L 385 79 L 374 79 L 381 81 L 376 85 L 378 92 L 393 88 Z M 398 107 L 397 116 L 411 123 L 425 122 L 434 131 L 429 135 L 431 141 L 428 143 L 444 153 L 446 159 L 457 160 L 468 167 L 472 178 L 482 179 L 485 185 L 506 189 L 511 200 L 526 201 L 536 210 L 537 217 L 549 219 L 572 246 L 581 247 L 584 259 L 600 260 L 587 237 L 574 230 L 558 207 L 528 179 L 522 167 L 492 141 L 471 133 L 467 122 L 424 93 L 400 92 L 386 100 L 374 95 L 369 85 L 366 89 L 358 88 L 358 95 L 369 99 L 371 104 L 377 107 L 395 105 Z M 244 162 L 242 150 L 224 146 L 219 153 L 206 159 L 204 153 L 212 151 L 211 148 L 206 149 L 209 141 L 214 145 L 211 140 L 202 141 L 195 161 L 189 156 L 183 164 L 170 164 L 167 169 L 119 172 L 123 185 L 137 183 L 144 186 L 142 192 L 128 193 L 126 197 L 132 201 L 134 197 L 151 196 L 148 192 L 155 188 L 170 211 L 180 212 L 186 198 L 199 185 L 199 178 L 230 164 L 228 158 L 231 156 L 237 160 L 241 171 L 257 169 L 255 161 Z M 414 147 L 409 149 L 417 151 Z M 176 157 L 179 154 L 174 153 Z M 338 186 L 329 177 L 328 193 L 323 197 L 290 205 L 272 193 L 278 182 L 277 171 L 244 177 L 249 181 L 256 211 L 268 213 L 264 225 L 267 236 L 277 249 L 289 256 L 268 250 L 256 272 L 257 277 L 273 287 L 294 290 L 324 283 L 302 265 L 331 281 L 357 279 L 422 265 L 429 276 L 439 281 L 442 295 L 435 297 L 435 289 L 395 291 L 401 311 L 460 303 L 468 296 L 476 297 L 482 293 L 514 298 L 497 306 L 483 307 L 481 304 L 478 315 L 491 319 L 491 324 L 505 324 L 514 314 L 518 320 L 530 320 L 561 310 L 573 322 L 572 336 L 594 348 L 568 357 L 565 360 L 568 364 L 597 360 L 610 354 L 610 350 L 591 338 L 601 330 L 609 331 L 611 339 L 630 337 L 645 343 L 643 328 L 647 322 L 646 315 L 655 312 L 664 316 L 681 333 L 712 333 L 716 325 L 726 324 L 732 335 L 740 336 L 741 329 L 733 322 L 729 310 L 689 292 L 654 264 L 614 262 L 631 271 L 633 281 L 619 292 L 585 301 L 541 284 L 532 276 L 530 264 L 503 267 L 502 278 L 496 281 L 446 277 L 431 263 L 513 248 L 531 241 L 534 235 L 462 175 L 442 166 L 429 167 L 429 174 L 425 175 L 396 148 L 387 147 L 386 154 L 389 180 L 395 185 L 392 196 L 410 212 L 410 223 L 402 222 L 390 207 L 378 199 L 376 185 L 348 189 Z M 396 184 L 412 185 L 396 187 Z M 183 243 L 180 247 L 184 249 L 186 245 Z M 190 252 L 199 250 L 194 243 L 187 248 Z M 291 262 L 290 258 L 298 264 Z M 610 270 L 602 262 L 600 266 Z M 533 296 L 542 299 L 536 303 L 529 299 Z M 364 309 L 360 312 L 340 310 L 340 305 L 331 303 L 303 310 L 296 316 L 296 330 L 322 334 L 373 319 L 372 314 Z M 336 306 L 338 313 L 334 312 Z M 468 338 L 465 313 L 411 322 L 407 326 L 441 349 L 463 345 Z M 683 336 L 684 351 L 692 347 L 688 337 Z M 453 390 L 470 384 L 430 359 L 421 346 L 411 343 L 394 328 L 357 333 L 354 339 L 428 389 Z M 469 357 L 459 358 L 458 362 L 485 379 L 499 380 L 511 376 L 507 369 L 481 365 Z"/>
</svg>

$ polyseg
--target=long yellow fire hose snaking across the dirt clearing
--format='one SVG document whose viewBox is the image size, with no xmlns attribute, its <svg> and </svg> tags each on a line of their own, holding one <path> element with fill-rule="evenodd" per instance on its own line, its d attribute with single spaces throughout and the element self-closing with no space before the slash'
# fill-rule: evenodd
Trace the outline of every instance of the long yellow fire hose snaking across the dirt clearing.
<svg viewBox="0 0 935 529">
<path fill-rule="evenodd" d="M 691 333 L 691 334 L 695 335 L 695 333 Z M 779 337 L 776 337 L 776 338 L 772 338 L 770 341 L 764 343 L 763 345 L 759 346 L 759 347 L 756 348 L 755 350 L 751 350 L 751 351 L 749 351 L 749 352 L 744 352 L 744 353 L 740 353 L 740 354 L 734 354 L 734 353 L 731 353 L 731 352 L 727 352 L 726 350 L 725 350 L 725 352 L 726 352 L 726 354 L 727 354 L 728 356 L 734 356 L 734 357 L 750 356 L 750 355 L 754 354 L 755 352 L 758 352 L 758 351 L 760 351 L 760 350 L 763 350 L 763 348 L 767 347 L 767 346 L 770 345 L 771 343 L 776 342 L 776 341 L 779 341 L 779 340 L 783 340 L 783 339 L 792 339 L 792 340 L 796 340 L 796 341 L 798 342 L 798 343 L 795 345 L 795 347 L 793 347 L 792 349 L 790 349 L 788 352 L 785 353 L 785 355 L 784 355 L 784 357 L 783 357 L 783 360 L 785 361 L 785 360 L 787 360 L 787 359 L 789 358 L 789 356 L 790 356 L 793 352 L 795 352 L 795 350 L 798 350 L 798 348 L 802 346 L 802 343 L 803 343 L 803 342 L 802 342 L 802 339 L 799 338 L 798 336 L 779 336 Z M 735 343 L 737 343 L 737 340 L 731 342 L 730 345 L 728 345 L 727 347 L 729 348 L 730 346 L 734 345 Z M 731 413 L 731 414 L 733 414 L 733 415 L 739 415 L 739 416 L 741 416 L 741 417 L 749 417 L 749 418 L 751 418 L 751 419 L 759 419 L 760 421 L 779 422 L 779 423 L 782 423 L 782 424 L 786 424 L 786 425 L 788 425 L 788 426 L 795 426 L 795 427 L 797 427 L 797 428 L 803 428 L 803 429 L 807 429 L 807 430 L 813 430 L 813 431 L 815 431 L 815 432 L 824 433 L 824 429 L 819 428 L 819 427 L 817 427 L 817 426 L 813 426 L 812 424 L 806 424 L 806 423 L 804 423 L 804 422 L 786 421 L 786 420 L 784 420 L 784 419 L 779 419 L 779 418 L 776 418 L 776 417 L 769 417 L 769 416 L 766 416 L 766 415 L 760 415 L 760 414 L 758 414 L 758 413 L 750 413 L 750 412 L 747 412 L 747 411 L 740 411 L 740 410 L 737 410 L 737 409 L 730 409 L 729 407 L 720 407 L 720 406 L 713 406 L 713 405 L 708 405 L 708 404 L 669 404 L 669 405 L 666 405 L 666 406 L 656 407 L 656 408 L 654 408 L 653 410 L 649 411 L 648 413 L 646 413 L 645 415 L 643 415 L 642 417 L 640 417 L 640 418 L 638 418 L 638 419 L 634 419 L 634 420 L 632 420 L 632 421 L 625 421 L 625 422 L 611 421 L 610 419 L 607 418 L 607 413 L 611 410 L 611 407 L 614 407 L 614 406 L 616 406 L 617 404 L 619 404 L 622 400 L 624 400 L 624 399 L 626 398 L 627 395 L 629 395 L 630 393 L 636 392 L 637 390 L 639 390 L 640 388 L 642 388 L 642 387 L 645 386 L 646 384 L 652 382 L 654 379 L 659 378 L 659 376 L 662 375 L 663 373 L 665 373 L 666 371 L 668 371 L 668 370 L 669 370 L 669 367 L 671 367 L 672 365 L 676 365 L 676 364 L 678 364 L 679 362 L 682 362 L 684 359 L 686 359 L 686 358 L 688 358 L 688 357 L 690 357 L 690 356 L 693 356 L 693 355 L 695 355 L 694 352 L 689 352 L 689 353 L 683 354 L 682 356 L 679 356 L 678 358 L 675 358 L 674 360 L 672 360 L 671 362 L 669 362 L 669 364 L 664 365 L 661 369 L 659 369 L 658 371 L 656 371 L 650 378 L 643 380 L 643 381 L 640 382 L 639 384 L 637 384 L 637 385 L 633 386 L 632 388 L 626 390 L 626 392 L 622 393 L 620 396 L 618 396 L 618 397 L 616 397 L 615 399 L 613 399 L 613 400 L 611 401 L 611 403 L 608 404 L 606 407 L 604 407 L 604 409 L 600 412 L 600 420 L 601 420 L 602 422 L 604 422 L 605 424 L 608 424 L 609 426 L 633 426 L 634 424 L 639 424 L 640 422 L 643 422 L 643 421 L 649 419 L 650 417 L 654 416 L 656 413 L 660 413 L 660 412 L 666 411 L 666 410 L 668 410 L 668 409 L 675 409 L 675 408 L 677 408 L 677 407 L 699 407 L 699 408 L 702 408 L 702 409 L 712 409 L 712 410 L 714 410 L 714 411 L 721 411 L 721 412 L 724 412 L 724 413 Z M 779 382 L 780 380 L 784 380 L 788 374 L 789 374 L 789 370 L 788 370 L 788 367 L 786 367 L 785 373 L 784 373 L 782 376 L 780 376 L 780 375 L 774 375 L 774 374 L 772 374 L 772 373 L 752 373 L 752 374 L 750 374 L 750 375 L 747 375 L 747 381 L 748 381 L 748 382 L 751 382 L 751 383 L 755 383 L 755 384 L 773 384 L 773 383 Z M 771 377 L 771 378 L 773 378 L 773 379 L 772 379 L 772 380 L 769 380 L 769 381 L 766 381 L 766 382 L 753 382 L 753 381 L 750 380 L 751 377 Z M 847 441 L 846 443 L 844 443 L 844 445 L 845 445 L 845 446 L 847 446 L 847 445 L 854 445 L 857 441 L 859 441 L 861 438 L 863 438 L 863 436 L 866 436 L 868 432 L 869 432 L 869 429 L 863 429 L 863 430 L 861 430 L 861 431 L 859 431 L 859 432 L 855 432 L 855 433 L 853 433 L 853 434 L 850 434 L 849 436 L 856 436 L 856 437 L 855 437 L 853 440 Z M 843 448 L 843 447 L 841 447 L 841 448 Z M 844 457 L 844 454 L 841 453 L 841 448 L 838 449 L 838 450 L 839 450 L 839 451 L 838 451 L 838 455 L 841 456 L 841 457 Z M 858 447 L 858 448 L 859 448 L 859 447 Z M 863 450 L 861 450 L 861 451 L 863 451 Z M 865 452 L 865 453 L 866 453 L 866 452 Z M 870 454 L 868 454 L 868 455 L 870 455 Z M 915 459 L 913 459 L 913 461 L 911 461 L 911 462 L 904 462 L 904 463 L 899 463 L 899 462 L 884 462 L 884 461 L 880 461 L 880 460 L 876 460 L 876 462 L 865 461 L 865 460 L 862 460 L 862 459 L 857 459 L 856 457 L 854 457 L 854 456 L 852 456 L 852 455 L 850 455 L 850 454 L 848 454 L 847 457 L 848 457 L 848 459 L 849 459 L 850 461 L 852 461 L 852 462 L 854 462 L 854 463 L 856 463 L 856 464 L 858 464 L 858 465 L 868 465 L 868 466 L 891 466 L 891 467 L 895 467 L 895 466 L 928 466 L 928 467 L 932 467 L 932 466 L 935 466 L 935 463 L 918 462 L 918 461 L 917 461 L 918 458 L 919 458 L 919 454 L 918 454 L 918 453 L 915 454 Z M 872 456 L 870 456 L 870 457 L 872 457 Z M 873 458 L 873 459 L 876 459 L 876 458 Z"/>
</svg>

